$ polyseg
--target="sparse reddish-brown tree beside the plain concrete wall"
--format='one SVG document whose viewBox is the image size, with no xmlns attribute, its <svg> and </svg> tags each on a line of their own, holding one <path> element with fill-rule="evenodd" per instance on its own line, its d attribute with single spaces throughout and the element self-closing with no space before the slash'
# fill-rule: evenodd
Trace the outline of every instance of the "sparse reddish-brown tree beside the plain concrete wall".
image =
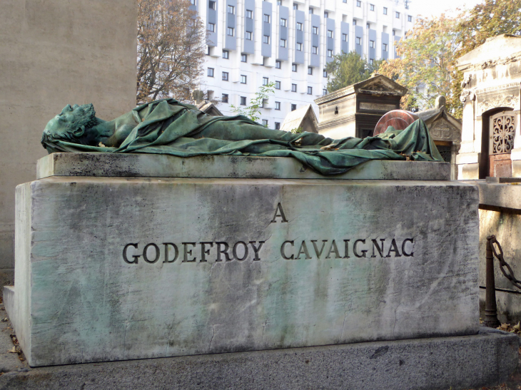
<svg viewBox="0 0 521 390">
<path fill-rule="evenodd" d="M 206 29 L 189 0 L 138 0 L 138 104 L 191 99 L 201 76 Z"/>
</svg>

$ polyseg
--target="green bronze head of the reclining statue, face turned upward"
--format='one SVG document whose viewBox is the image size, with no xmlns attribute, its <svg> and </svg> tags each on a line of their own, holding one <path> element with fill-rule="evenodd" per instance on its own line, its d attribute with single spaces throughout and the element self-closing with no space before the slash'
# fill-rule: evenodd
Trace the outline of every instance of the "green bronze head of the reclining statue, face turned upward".
<svg viewBox="0 0 521 390">
<path fill-rule="evenodd" d="M 72 107 L 68 104 L 61 110 L 61 113 L 49 120 L 49 123 L 45 126 L 44 134 L 41 136 L 41 144 L 44 145 L 44 148 L 47 148 L 47 144 L 62 140 L 89 145 L 91 140 L 86 130 L 97 124 L 96 111 L 94 111 L 92 104 L 84 104 L 83 106 L 75 104 Z"/>
</svg>

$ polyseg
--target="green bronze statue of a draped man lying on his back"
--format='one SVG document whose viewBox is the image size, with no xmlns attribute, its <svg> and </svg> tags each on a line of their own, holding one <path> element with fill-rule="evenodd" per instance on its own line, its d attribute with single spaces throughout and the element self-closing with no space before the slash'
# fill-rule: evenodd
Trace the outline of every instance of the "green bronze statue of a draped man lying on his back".
<svg viewBox="0 0 521 390">
<path fill-rule="evenodd" d="M 315 133 L 271 130 L 245 116 L 209 116 L 175 99 L 153 101 L 114 120 L 91 104 L 66 106 L 41 138 L 49 153 L 156 153 L 292 157 L 322 175 L 345 173 L 368 160 L 443 161 L 423 120 L 376 137 L 332 140 Z"/>
</svg>

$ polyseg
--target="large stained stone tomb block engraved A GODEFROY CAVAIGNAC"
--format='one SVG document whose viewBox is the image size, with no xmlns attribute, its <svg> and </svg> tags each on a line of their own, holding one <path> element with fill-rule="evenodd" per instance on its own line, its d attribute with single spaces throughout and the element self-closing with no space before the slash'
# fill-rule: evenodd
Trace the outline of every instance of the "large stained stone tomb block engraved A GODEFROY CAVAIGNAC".
<svg viewBox="0 0 521 390">
<path fill-rule="evenodd" d="M 16 189 L 6 308 L 31 366 L 477 334 L 477 205 L 436 180 L 49 176 Z"/>
</svg>

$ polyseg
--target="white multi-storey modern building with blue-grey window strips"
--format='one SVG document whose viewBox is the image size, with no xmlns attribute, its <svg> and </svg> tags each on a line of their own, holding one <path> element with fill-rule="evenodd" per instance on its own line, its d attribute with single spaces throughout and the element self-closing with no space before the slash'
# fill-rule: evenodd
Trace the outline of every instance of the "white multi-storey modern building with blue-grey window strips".
<svg viewBox="0 0 521 390">
<path fill-rule="evenodd" d="M 278 128 L 286 114 L 326 93 L 325 64 L 340 52 L 368 61 L 395 58 L 395 42 L 413 28 L 404 0 L 191 0 L 208 29 L 201 89 L 248 106 L 259 86 L 275 83 L 261 120 Z"/>
</svg>

